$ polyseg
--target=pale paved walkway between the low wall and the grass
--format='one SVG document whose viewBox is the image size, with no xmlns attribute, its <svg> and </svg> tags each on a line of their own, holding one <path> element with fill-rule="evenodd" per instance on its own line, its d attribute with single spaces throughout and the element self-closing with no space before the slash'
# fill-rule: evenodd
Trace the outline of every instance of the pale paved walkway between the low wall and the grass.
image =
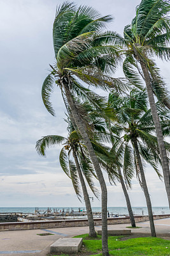
<svg viewBox="0 0 170 256">
<path fill-rule="evenodd" d="M 170 218 L 155 220 L 158 235 L 170 237 Z M 149 221 L 137 223 L 138 227 L 132 233 L 150 233 Z M 129 224 L 108 225 L 108 229 L 125 229 Z M 101 229 L 101 226 L 96 226 Z M 0 232 L 0 256 L 46 256 L 50 244 L 61 237 L 73 237 L 89 232 L 89 227 L 50 228 L 36 230 L 13 230 Z M 38 236 L 37 234 L 50 233 L 52 236 Z"/>
</svg>

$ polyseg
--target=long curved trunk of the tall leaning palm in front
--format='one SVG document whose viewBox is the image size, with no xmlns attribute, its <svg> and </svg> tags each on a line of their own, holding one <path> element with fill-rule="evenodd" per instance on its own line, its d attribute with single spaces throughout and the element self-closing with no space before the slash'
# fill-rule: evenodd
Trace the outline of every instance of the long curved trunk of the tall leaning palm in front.
<svg viewBox="0 0 170 256">
<path fill-rule="evenodd" d="M 69 108 L 71 109 L 71 113 L 73 115 L 74 121 L 76 123 L 76 126 L 78 127 L 78 130 L 85 141 L 85 145 L 87 146 L 87 150 L 90 155 L 90 159 L 92 160 L 92 163 L 94 165 L 94 169 L 96 171 L 97 177 L 99 179 L 99 183 L 101 186 L 101 200 L 102 200 L 102 249 L 103 249 L 103 255 L 108 256 L 109 250 L 108 250 L 108 226 L 107 226 L 107 188 L 106 183 L 103 177 L 103 173 L 101 171 L 101 167 L 99 165 L 99 161 L 96 157 L 96 154 L 94 152 L 94 148 L 92 147 L 92 143 L 89 139 L 89 136 L 86 131 L 85 124 L 81 120 L 80 116 L 78 115 L 78 111 L 76 109 L 76 106 L 74 104 L 74 100 L 71 96 L 71 93 L 69 91 L 69 86 L 66 81 L 61 81 L 62 86 L 64 87 L 67 102 L 69 104 Z"/>
</svg>

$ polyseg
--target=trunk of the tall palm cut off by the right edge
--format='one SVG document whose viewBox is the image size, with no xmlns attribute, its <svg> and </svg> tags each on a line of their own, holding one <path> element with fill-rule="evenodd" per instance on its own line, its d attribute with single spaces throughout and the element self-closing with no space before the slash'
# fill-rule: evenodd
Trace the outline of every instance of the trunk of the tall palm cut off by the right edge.
<svg viewBox="0 0 170 256">
<path fill-rule="evenodd" d="M 167 154 L 166 154 L 166 147 L 164 144 L 164 137 L 162 134 L 162 129 L 160 126 L 160 120 L 159 120 L 159 115 L 157 113 L 157 108 L 155 106 L 155 100 L 153 97 L 153 90 L 152 90 L 152 85 L 150 81 L 150 75 L 148 72 L 148 68 L 146 67 L 146 64 L 141 60 L 140 61 L 141 68 L 143 70 L 143 75 L 145 77 L 145 83 L 146 83 L 146 90 L 148 92 L 148 99 L 150 102 L 150 108 L 152 111 L 152 117 L 153 117 L 153 122 L 155 124 L 155 129 L 157 133 L 157 141 L 159 145 L 159 152 L 160 152 L 160 159 L 162 163 L 162 170 L 163 170 L 163 175 L 164 175 L 164 183 L 166 186 L 166 193 L 167 193 L 167 198 L 169 202 L 169 207 L 170 207 L 170 178 L 169 178 L 169 164 L 168 164 L 168 159 L 167 159 Z"/>
</svg>

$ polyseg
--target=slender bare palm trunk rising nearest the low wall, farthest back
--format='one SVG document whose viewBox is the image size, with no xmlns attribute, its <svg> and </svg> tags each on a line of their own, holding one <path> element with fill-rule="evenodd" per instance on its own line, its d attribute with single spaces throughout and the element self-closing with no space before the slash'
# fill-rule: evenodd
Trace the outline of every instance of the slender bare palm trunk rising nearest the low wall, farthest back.
<svg viewBox="0 0 170 256">
<path fill-rule="evenodd" d="M 122 178 L 122 173 L 121 173 L 121 170 L 120 170 L 119 166 L 118 166 L 118 175 L 120 176 L 120 183 L 121 183 L 122 189 L 124 191 L 125 200 L 126 200 L 126 204 L 127 204 L 127 209 L 128 209 L 128 212 L 129 212 L 129 218 L 131 220 L 131 225 L 132 225 L 133 228 L 136 228 L 136 223 L 135 223 L 135 220 L 134 220 L 134 214 L 132 212 L 132 207 L 131 207 L 131 201 L 129 199 L 129 195 L 127 193 L 127 189 L 125 187 L 124 179 Z"/>
</svg>

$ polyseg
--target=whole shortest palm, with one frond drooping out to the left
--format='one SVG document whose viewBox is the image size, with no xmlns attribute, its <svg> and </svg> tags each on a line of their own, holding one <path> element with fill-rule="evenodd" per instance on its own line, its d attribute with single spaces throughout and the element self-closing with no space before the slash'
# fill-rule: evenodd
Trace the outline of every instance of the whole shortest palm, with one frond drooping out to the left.
<svg viewBox="0 0 170 256">
<path fill-rule="evenodd" d="M 95 173 L 92 167 L 92 163 L 89 160 L 89 156 L 87 156 L 86 147 L 83 145 L 83 143 L 81 143 L 78 133 L 76 131 L 70 132 L 68 138 L 64 138 L 58 135 L 44 136 L 43 138 L 37 141 L 36 150 L 38 154 L 40 154 L 41 156 L 46 156 L 46 148 L 52 147 L 53 145 L 60 145 L 61 143 L 64 145 L 64 147 L 62 147 L 60 151 L 60 166 L 62 167 L 62 170 L 64 170 L 66 175 L 69 178 L 71 178 L 74 191 L 76 192 L 76 195 L 81 201 L 80 186 L 78 182 L 78 180 L 80 180 L 81 188 L 83 191 L 83 198 L 85 200 L 85 205 L 87 209 L 87 218 L 89 222 L 89 236 L 97 237 L 94 228 L 94 220 L 92 208 L 90 205 L 90 198 L 87 192 L 85 180 L 83 179 L 84 174 L 87 183 L 90 186 L 90 189 L 92 190 L 94 195 L 97 196 L 97 189 L 94 187 L 94 182 L 92 181 L 92 176 L 94 176 Z M 71 152 L 73 154 L 74 162 L 70 159 Z"/>
</svg>

